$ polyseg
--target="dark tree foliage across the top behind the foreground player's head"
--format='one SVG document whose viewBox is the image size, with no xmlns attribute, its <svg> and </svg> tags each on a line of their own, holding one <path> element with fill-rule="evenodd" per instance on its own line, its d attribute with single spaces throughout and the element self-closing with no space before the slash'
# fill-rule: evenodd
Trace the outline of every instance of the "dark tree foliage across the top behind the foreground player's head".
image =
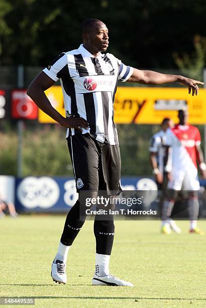
<svg viewBox="0 0 206 308">
<path fill-rule="evenodd" d="M 190 53 L 193 37 L 206 36 L 203 0 L 0 0 L 0 12 L 2 64 L 44 66 L 79 46 L 89 17 L 108 26 L 108 51 L 140 68 L 174 68 L 173 53 Z"/>
</svg>

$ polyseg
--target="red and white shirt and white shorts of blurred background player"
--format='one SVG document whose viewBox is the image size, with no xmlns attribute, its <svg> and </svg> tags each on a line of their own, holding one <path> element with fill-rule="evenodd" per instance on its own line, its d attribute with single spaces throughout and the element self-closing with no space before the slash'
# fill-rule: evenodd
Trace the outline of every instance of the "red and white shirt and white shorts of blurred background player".
<svg viewBox="0 0 206 308">
<path fill-rule="evenodd" d="M 192 125 L 175 125 L 166 131 L 165 144 L 172 147 L 172 180 L 169 189 L 199 190 L 196 145 L 201 143 L 199 130 Z"/>
</svg>

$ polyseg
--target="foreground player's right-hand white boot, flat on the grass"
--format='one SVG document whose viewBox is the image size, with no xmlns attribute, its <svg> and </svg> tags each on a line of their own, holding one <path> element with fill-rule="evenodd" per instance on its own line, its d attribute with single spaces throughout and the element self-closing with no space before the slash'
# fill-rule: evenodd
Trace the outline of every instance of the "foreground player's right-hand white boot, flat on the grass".
<svg viewBox="0 0 206 308">
<path fill-rule="evenodd" d="M 113 285 L 113 286 L 133 286 L 131 282 L 127 282 L 124 280 L 121 280 L 115 276 L 107 275 L 107 276 L 97 276 L 94 274 L 94 277 L 92 279 L 93 285 Z"/>
</svg>

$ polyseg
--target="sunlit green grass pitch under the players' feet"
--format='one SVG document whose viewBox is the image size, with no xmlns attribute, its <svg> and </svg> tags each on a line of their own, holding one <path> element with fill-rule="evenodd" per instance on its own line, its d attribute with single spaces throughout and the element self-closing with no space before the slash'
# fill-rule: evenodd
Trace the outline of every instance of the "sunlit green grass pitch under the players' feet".
<svg viewBox="0 0 206 308">
<path fill-rule="evenodd" d="M 0 220 L 0 297 L 35 297 L 37 307 L 206 306 L 206 236 L 161 235 L 160 221 L 116 221 L 110 272 L 134 287 L 92 286 L 93 221 L 86 221 L 67 262 L 66 285 L 50 277 L 65 216 Z M 206 221 L 198 226 L 206 232 Z"/>
</svg>

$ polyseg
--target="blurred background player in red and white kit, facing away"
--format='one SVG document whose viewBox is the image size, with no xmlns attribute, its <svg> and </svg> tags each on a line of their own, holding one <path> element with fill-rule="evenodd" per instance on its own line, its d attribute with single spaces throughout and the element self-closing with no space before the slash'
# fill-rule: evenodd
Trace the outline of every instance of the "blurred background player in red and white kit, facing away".
<svg viewBox="0 0 206 308">
<path fill-rule="evenodd" d="M 201 137 L 198 128 L 188 124 L 187 110 L 178 111 L 179 124 L 166 131 L 165 144 L 172 148 L 172 175 L 168 182 L 168 199 L 163 203 L 162 227 L 169 231 L 169 217 L 180 190 L 187 197 L 190 233 L 203 235 L 197 228 L 199 212 L 197 162 L 201 176 L 206 178 L 206 165 L 200 148 Z"/>
</svg>

